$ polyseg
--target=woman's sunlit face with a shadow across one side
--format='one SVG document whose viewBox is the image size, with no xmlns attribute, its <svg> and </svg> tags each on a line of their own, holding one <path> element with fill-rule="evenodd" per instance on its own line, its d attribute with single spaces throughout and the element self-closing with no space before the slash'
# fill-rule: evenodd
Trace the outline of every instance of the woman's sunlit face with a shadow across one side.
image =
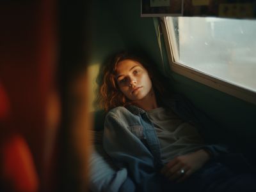
<svg viewBox="0 0 256 192">
<path fill-rule="evenodd" d="M 116 82 L 120 91 L 131 101 L 142 100 L 152 90 L 148 71 L 138 61 L 126 59 L 117 64 Z"/>
</svg>

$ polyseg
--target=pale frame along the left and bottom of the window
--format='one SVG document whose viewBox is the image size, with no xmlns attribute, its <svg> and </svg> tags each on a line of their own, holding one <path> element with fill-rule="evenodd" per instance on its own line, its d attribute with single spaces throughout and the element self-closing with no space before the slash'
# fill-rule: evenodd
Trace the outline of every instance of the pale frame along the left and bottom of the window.
<svg viewBox="0 0 256 192">
<path fill-rule="evenodd" d="M 177 47 L 175 46 L 176 40 L 173 40 L 173 38 L 168 33 L 168 29 L 166 27 L 166 18 L 161 17 L 159 19 L 163 31 L 164 44 L 166 46 L 169 66 L 173 72 L 183 75 L 184 77 L 191 78 L 196 82 L 200 82 L 201 84 L 217 89 L 218 91 L 225 92 L 227 94 L 235 96 L 236 98 L 248 101 L 256 105 L 256 92 L 253 92 L 244 87 L 239 87 L 237 85 L 230 84 L 228 82 L 225 82 L 224 80 L 213 77 L 207 73 L 203 73 L 202 71 L 189 68 L 188 66 L 176 62 L 174 60 L 174 55 L 177 54 L 177 50 L 175 50 L 174 48 Z M 170 25 L 170 32 L 174 33 L 173 25 Z"/>
</svg>

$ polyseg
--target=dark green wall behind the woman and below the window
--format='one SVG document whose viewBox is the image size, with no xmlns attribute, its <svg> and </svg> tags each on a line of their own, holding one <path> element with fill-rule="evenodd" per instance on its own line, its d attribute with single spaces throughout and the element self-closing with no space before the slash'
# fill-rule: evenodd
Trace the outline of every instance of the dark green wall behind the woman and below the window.
<svg viewBox="0 0 256 192">
<path fill-rule="evenodd" d="M 164 63 L 161 59 L 156 34 L 157 18 L 140 17 L 140 1 L 98 0 L 93 1 L 92 8 L 92 57 L 89 68 L 102 64 L 107 55 L 113 52 L 136 48 L 151 55 L 160 70 L 170 70 L 166 52 L 163 52 Z M 256 149 L 255 105 L 172 71 L 171 75 L 175 91 L 187 96 L 196 107 L 223 126 L 220 134 L 225 142 L 237 151 L 253 156 L 252 151 Z M 102 113 L 95 111 L 94 128 L 102 129 Z"/>
</svg>

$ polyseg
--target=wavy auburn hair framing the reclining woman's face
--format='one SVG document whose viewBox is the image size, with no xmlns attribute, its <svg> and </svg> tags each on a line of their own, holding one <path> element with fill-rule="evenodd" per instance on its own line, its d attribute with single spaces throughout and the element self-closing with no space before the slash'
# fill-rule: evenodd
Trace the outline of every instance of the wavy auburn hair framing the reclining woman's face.
<svg viewBox="0 0 256 192">
<path fill-rule="evenodd" d="M 148 61 L 138 55 L 131 54 L 129 52 L 120 52 L 113 57 L 110 57 L 102 69 L 103 78 L 99 82 L 100 94 L 98 94 L 97 105 L 99 105 L 100 108 L 104 108 L 105 112 L 108 112 L 112 108 L 119 106 L 124 107 L 132 103 L 132 101 L 127 99 L 120 91 L 116 82 L 117 65 L 121 61 L 127 59 L 139 62 L 147 70 L 148 75 L 152 79 L 152 86 L 156 92 L 156 96 L 163 97 L 163 94 L 168 92 L 167 89 L 164 89 L 166 87 L 164 84 L 166 84 L 167 78 L 164 77 L 163 74 L 159 73 L 152 63 L 148 63 Z"/>
</svg>

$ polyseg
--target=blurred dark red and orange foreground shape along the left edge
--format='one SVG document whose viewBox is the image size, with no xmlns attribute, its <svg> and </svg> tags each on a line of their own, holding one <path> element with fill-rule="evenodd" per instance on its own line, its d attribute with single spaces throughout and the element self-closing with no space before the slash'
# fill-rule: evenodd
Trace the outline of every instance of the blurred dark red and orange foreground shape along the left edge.
<svg viewBox="0 0 256 192">
<path fill-rule="evenodd" d="M 86 9 L 78 1 L 0 3 L 0 191 L 86 191 Z M 67 111 L 81 95 L 76 82 L 84 85 L 81 130 Z"/>
</svg>

